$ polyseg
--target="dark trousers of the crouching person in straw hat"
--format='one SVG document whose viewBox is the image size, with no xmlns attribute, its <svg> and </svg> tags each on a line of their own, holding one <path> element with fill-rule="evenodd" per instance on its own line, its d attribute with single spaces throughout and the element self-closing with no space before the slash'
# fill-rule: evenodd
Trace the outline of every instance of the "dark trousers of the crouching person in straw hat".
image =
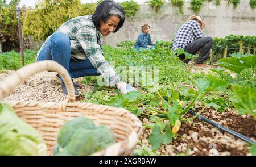
<svg viewBox="0 0 256 167">
<path fill-rule="evenodd" d="M 184 51 L 196 55 L 198 51 L 200 51 L 199 57 L 196 59 L 197 64 L 203 63 L 205 60 L 209 58 L 210 49 L 212 48 L 213 40 L 210 36 L 205 36 L 192 43 L 189 43 L 185 48 Z M 185 55 L 179 56 L 180 60 L 183 61 L 185 59 Z M 191 59 L 185 60 L 184 62 L 188 64 Z"/>
</svg>

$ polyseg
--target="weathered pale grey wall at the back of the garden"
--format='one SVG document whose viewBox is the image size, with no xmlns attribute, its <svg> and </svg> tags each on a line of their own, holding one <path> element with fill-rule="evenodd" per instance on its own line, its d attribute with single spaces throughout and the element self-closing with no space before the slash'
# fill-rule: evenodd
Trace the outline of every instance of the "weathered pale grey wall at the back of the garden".
<svg viewBox="0 0 256 167">
<path fill-rule="evenodd" d="M 115 45 L 124 40 L 135 41 L 141 32 L 141 26 L 145 23 L 151 26 L 152 41 L 174 39 L 177 30 L 185 23 L 190 15 L 189 2 L 185 2 L 184 14 L 180 14 L 178 7 L 172 7 L 166 3 L 158 12 L 147 4 L 141 5 L 139 11 L 133 18 L 126 19 L 123 27 L 107 37 L 104 37 L 103 44 Z M 233 5 L 228 5 L 228 0 L 222 0 L 220 6 L 215 6 L 213 2 L 204 2 L 199 14 L 205 22 L 204 33 L 212 37 L 225 37 L 234 35 L 254 35 L 256 36 L 256 9 L 251 9 L 247 0 L 242 0 L 233 9 Z"/>
</svg>

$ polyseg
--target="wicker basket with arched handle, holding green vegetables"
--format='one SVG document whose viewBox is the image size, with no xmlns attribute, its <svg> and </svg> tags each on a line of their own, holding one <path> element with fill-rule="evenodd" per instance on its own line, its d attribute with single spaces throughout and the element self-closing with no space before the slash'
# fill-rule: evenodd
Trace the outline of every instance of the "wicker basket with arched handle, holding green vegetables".
<svg viewBox="0 0 256 167">
<path fill-rule="evenodd" d="M 40 61 L 27 65 L 0 83 L 0 99 L 32 74 L 48 70 L 63 77 L 68 89 L 68 100 L 63 102 L 13 102 L 10 105 L 16 114 L 33 126 L 42 135 L 48 147 L 48 155 L 57 143 L 60 128 L 77 116 L 86 116 L 96 125 L 103 124 L 112 129 L 117 143 L 93 155 L 131 155 L 142 134 L 142 124 L 137 116 L 123 108 L 75 101 L 75 90 L 67 70 L 55 61 Z"/>
</svg>

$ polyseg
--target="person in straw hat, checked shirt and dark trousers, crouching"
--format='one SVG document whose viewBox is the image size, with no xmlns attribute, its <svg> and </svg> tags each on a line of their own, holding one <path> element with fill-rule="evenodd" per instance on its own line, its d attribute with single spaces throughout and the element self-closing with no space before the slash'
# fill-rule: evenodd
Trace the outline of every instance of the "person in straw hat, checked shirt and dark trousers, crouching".
<svg viewBox="0 0 256 167">
<path fill-rule="evenodd" d="M 177 31 L 172 49 L 183 48 L 185 52 L 196 55 L 198 52 L 199 57 L 196 59 L 196 66 L 205 67 L 204 62 L 211 54 L 213 45 L 212 37 L 205 36 L 202 29 L 205 27 L 203 20 L 200 16 L 191 15 L 188 21 L 181 26 Z M 185 60 L 185 55 L 179 55 L 181 61 L 188 64 L 191 59 Z"/>
</svg>

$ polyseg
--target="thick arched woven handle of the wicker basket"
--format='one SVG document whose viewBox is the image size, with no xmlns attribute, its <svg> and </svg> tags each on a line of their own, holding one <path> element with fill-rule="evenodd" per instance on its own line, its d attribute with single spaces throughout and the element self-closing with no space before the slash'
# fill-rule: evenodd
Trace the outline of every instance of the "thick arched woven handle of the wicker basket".
<svg viewBox="0 0 256 167">
<path fill-rule="evenodd" d="M 0 100 L 11 93 L 11 91 L 13 91 L 16 86 L 25 81 L 28 77 L 44 70 L 57 72 L 60 74 L 68 90 L 69 102 L 74 102 L 76 97 L 71 77 L 63 66 L 53 60 L 44 60 L 26 65 L 23 68 L 17 70 L 13 75 L 3 80 L 0 83 Z"/>
</svg>

